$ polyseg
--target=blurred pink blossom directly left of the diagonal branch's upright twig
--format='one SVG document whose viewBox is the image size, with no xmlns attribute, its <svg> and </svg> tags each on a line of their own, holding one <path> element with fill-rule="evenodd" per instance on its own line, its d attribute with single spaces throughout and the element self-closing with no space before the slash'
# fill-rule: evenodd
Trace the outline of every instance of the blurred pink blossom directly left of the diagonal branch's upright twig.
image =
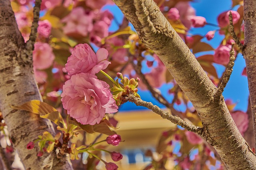
<svg viewBox="0 0 256 170">
<path fill-rule="evenodd" d="M 231 45 L 220 45 L 213 55 L 213 60 L 215 63 L 227 65 L 229 62 L 229 51 L 231 49 Z"/>
</svg>

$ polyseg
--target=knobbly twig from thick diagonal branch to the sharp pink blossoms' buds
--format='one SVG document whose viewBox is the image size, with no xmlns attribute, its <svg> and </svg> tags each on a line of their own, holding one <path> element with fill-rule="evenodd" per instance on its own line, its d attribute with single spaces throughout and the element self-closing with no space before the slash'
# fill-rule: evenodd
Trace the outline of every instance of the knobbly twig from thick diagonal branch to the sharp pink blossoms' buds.
<svg viewBox="0 0 256 170">
<path fill-rule="evenodd" d="M 128 100 L 129 102 L 133 102 L 134 104 L 136 104 L 136 106 L 147 107 L 148 109 L 150 109 L 150 110 L 154 111 L 155 113 L 157 113 L 158 115 L 160 115 L 162 118 L 168 119 L 172 123 L 174 123 L 176 125 L 180 125 L 181 127 L 187 129 L 188 131 L 197 133 L 198 135 L 202 135 L 203 129 L 201 127 L 191 125 L 188 122 L 181 119 L 180 117 L 174 116 L 171 113 L 160 109 L 160 107 L 152 104 L 151 102 L 145 102 L 145 101 L 141 100 L 140 98 L 136 98 L 132 94 L 129 94 L 129 96 L 125 97 L 125 99 Z"/>
</svg>

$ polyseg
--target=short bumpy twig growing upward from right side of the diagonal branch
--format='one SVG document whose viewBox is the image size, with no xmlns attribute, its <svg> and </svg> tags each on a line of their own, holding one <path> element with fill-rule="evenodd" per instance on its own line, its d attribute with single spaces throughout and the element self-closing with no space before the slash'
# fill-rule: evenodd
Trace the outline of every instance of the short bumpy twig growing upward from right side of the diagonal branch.
<svg viewBox="0 0 256 170">
<path fill-rule="evenodd" d="M 232 43 L 231 45 L 231 49 L 230 49 L 230 57 L 229 57 L 229 63 L 228 63 L 228 66 L 227 66 L 227 69 L 225 71 L 225 74 L 222 78 L 222 82 L 220 83 L 220 86 L 218 87 L 218 90 L 216 92 L 216 94 L 214 95 L 214 98 L 220 98 L 220 96 L 222 95 L 223 91 L 224 91 L 224 88 L 226 87 L 227 83 L 228 83 L 228 80 L 230 78 L 230 75 L 233 71 L 233 66 L 234 66 L 234 61 L 235 61 L 235 52 L 234 52 L 234 43 Z"/>
</svg>

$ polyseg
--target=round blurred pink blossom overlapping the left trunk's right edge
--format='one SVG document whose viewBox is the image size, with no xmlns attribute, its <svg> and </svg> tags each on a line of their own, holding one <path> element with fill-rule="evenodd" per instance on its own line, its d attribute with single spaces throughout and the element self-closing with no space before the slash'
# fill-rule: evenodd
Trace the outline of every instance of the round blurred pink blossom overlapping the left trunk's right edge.
<svg viewBox="0 0 256 170">
<path fill-rule="evenodd" d="M 33 51 L 33 65 L 37 69 L 46 69 L 52 65 L 54 61 L 52 48 L 48 43 L 36 42 Z"/>
</svg>

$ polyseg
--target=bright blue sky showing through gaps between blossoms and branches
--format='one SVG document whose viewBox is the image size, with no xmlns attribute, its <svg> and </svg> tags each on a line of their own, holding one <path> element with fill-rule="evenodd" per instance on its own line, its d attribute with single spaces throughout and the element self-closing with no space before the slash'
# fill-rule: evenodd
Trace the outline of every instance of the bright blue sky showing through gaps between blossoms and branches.
<svg viewBox="0 0 256 170">
<path fill-rule="evenodd" d="M 195 8 L 196 16 L 203 16 L 206 18 L 206 21 L 208 23 L 212 23 L 216 25 L 218 24 L 217 16 L 221 12 L 231 10 L 231 9 L 232 10 L 237 9 L 237 7 L 234 7 L 234 8 L 231 7 L 232 6 L 231 0 L 197 0 L 197 1 L 191 2 L 190 4 L 192 7 Z M 122 23 L 123 15 L 117 6 L 106 6 L 104 7 L 104 9 L 110 10 L 114 14 L 116 21 L 118 23 Z M 112 22 L 112 25 L 110 26 L 110 31 L 115 31 L 116 29 L 117 29 L 116 23 Z M 212 31 L 214 29 L 218 29 L 218 27 L 206 25 L 205 27 L 202 27 L 202 28 L 191 29 L 190 33 L 204 36 L 208 31 Z M 216 48 L 218 47 L 218 45 L 220 44 L 223 38 L 224 38 L 223 35 L 219 35 L 218 33 L 216 33 L 215 37 L 211 41 L 207 41 L 205 38 L 202 41 L 210 43 L 212 47 Z M 212 54 L 212 52 L 210 54 Z M 222 72 L 224 71 L 224 66 L 220 66 L 219 64 L 214 64 L 214 66 L 216 67 L 218 76 L 220 77 L 222 75 Z M 235 110 L 242 110 L 242 111 L 246 111 L 247 109 L 248 93 L 249 93 L 247 77 L 241 75 L 244 67 L 245 67 L 245 61 L 242 55 L 239 54 L 235 61 L 234 70 L 230 77 L 230 81 L 228 82 L 223 93 L 225 99 L 232 99 L 233 102 L 237 103 Z M 171 87 L 170 84 L 165 84 L 160 88 L 162 94 L 168 99 L 168 101 L 172 100 L 170 95 L 167 94 L 167 91 L 170 87 Z M 152 102 L 153 104 L 156 104 L 160 107 L 164 107 L 152 97 L 150 92 L 139 90 L 138 93 L 142 97 L 142 100 L 145 100 L 147 102 Z M 146 108 L 135 106 L 135 104 L 132 104 L 130 102 L 127 102 L 126 104 L 120 106 L 120 111 L 138 110 L 138 109 L 146 109 Z M 183 110 L 184 108 L 177 107 L 176 109 Z"/>
</svg>

